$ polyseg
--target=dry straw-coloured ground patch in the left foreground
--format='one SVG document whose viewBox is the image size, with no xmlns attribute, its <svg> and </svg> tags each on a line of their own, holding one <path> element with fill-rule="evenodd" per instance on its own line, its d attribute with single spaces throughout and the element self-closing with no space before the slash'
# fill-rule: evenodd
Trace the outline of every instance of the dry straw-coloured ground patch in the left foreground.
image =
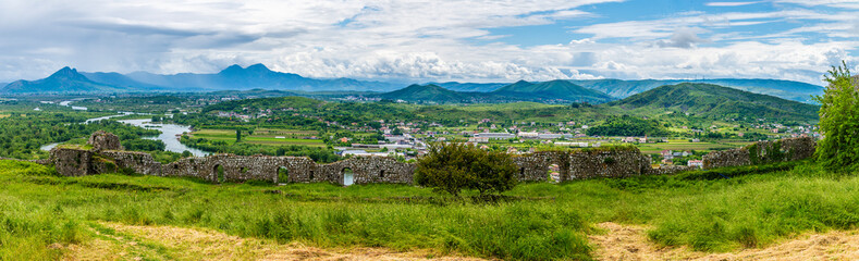
<svg viewBox="0 0 859 261">
<path fill-rule="evenodd" d="M 242 238 L 212 229 L 99 223 L 96 237 L 65 247 L 65 260 L 481 260 L 430 251 L 321 249 Z"/>
</svg>

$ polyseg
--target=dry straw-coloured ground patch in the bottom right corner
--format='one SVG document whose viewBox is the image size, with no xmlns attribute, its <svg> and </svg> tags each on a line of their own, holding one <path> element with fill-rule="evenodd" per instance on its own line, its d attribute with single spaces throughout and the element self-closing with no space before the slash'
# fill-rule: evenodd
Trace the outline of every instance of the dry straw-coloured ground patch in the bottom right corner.
<svg viewBox="0 0 859 261">
<path fill-rule="evenodd" d="M 599 260 L 859 260 L 859 234 L 806 234 L 766 248 L 728 253 L 692 251 L 686 247 L 659 248 L 650 243 L 647 226 L 601 223 L 604 235 L 589 236 Z"/>
</svg>

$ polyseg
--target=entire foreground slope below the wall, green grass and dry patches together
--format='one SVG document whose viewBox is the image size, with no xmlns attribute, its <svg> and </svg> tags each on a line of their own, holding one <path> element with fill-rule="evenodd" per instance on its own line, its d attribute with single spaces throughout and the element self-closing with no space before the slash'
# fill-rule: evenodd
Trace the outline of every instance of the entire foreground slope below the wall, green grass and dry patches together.
<svg viewBox="0 0 859 261">
<path fill-rule="evenodd" d="M 527 183 L 516 200 L 473 203 L 404 185 L 60 177 L 0 161 L 0 260 L 858 258 L 859 177 L 756 170 L 773 169 Z"/>
</svg>

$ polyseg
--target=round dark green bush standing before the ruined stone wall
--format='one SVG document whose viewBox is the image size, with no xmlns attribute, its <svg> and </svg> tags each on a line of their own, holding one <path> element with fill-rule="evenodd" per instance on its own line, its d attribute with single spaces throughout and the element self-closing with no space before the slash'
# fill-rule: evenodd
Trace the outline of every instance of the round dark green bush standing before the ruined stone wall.
<svg viewBox="0 0 859 261">
<path fill-rule="evenodd" d="M 476 189 L 486 196 L 516 186 L 515 173 L 516 164 L 505 152 L 464 144 L 434 144 L 418 159 L 415 183 L 454 197 L 459 197 L 463 189 Z"/>
</svg>

